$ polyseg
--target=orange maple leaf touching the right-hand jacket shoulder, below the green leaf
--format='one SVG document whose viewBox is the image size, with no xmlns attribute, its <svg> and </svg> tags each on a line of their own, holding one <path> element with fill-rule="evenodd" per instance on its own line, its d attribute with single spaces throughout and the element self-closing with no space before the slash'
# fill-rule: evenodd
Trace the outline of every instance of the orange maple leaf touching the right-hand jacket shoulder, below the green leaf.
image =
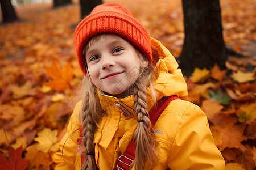
<svg viewBox="0 0 256 170">
<path fill-rule="evenodd" d="M 201 109 L 207 115 L 207 118 L 211 120 L 214 115 L 223 109 L 224 106 L 220 105 L 218 101 L 212 101 L 210 99 L 204 100 Z"/>
</svg>

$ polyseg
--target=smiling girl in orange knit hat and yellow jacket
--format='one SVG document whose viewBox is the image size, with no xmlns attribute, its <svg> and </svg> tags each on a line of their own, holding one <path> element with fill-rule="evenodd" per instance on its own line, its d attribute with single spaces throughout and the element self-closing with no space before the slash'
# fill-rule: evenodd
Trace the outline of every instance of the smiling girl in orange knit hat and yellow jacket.
<svg viewBox="0 0 256 170">
<path fill-rule="evenodd" d="M 186 101 L 175 58 L 126 7 L 94 8 L 76 28 L 75 48 L 85 74 L 82 100 L 53 155 L 55 169 L 225 169 L 207 117 Z M 167 96 L 180 99 L 151 124 L 148 112 Z M 132 159 L 122 155 L 131 141 Z"/>
</svg>

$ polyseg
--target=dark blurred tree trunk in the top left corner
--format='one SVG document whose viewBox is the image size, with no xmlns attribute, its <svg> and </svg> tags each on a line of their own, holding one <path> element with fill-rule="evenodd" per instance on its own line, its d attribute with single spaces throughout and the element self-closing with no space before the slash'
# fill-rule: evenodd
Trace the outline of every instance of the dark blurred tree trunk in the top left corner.
<svg viewBox="0 0 256 170">
<path fill-rule="evenodd" d="M 11 5 L 11 0 L 1 0 L 0 1 L 3 23 L 14 22 L 18 20 L 16 12 L 13 5 Z"/>
</svg>

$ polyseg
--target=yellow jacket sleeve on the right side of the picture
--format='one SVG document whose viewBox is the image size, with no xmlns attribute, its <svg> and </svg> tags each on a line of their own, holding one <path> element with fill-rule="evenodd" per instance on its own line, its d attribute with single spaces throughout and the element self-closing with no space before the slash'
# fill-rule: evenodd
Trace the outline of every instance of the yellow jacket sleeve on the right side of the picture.
<svg viewBox="0 0 256 170">
<path fill-rule="evenodd" d="M 172 170 L 226 169 L 224 158 L 214 145 L 207 117 L 198 106 L 192 104 L 181 114 L 167 164 Z"/>
</svg>

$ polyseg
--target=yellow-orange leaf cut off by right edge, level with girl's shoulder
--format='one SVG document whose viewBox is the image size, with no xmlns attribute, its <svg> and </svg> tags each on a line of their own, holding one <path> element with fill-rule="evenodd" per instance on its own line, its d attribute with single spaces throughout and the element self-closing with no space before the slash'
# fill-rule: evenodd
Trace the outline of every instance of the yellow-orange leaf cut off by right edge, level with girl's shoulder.
<svg viewBox="0 0 256 170">
<path fill-rule="evenodd" d="M 240 122 L 250 122 L 256 119 L 256 104 L 240 107 L 236 113 Z"/>
</svg>

